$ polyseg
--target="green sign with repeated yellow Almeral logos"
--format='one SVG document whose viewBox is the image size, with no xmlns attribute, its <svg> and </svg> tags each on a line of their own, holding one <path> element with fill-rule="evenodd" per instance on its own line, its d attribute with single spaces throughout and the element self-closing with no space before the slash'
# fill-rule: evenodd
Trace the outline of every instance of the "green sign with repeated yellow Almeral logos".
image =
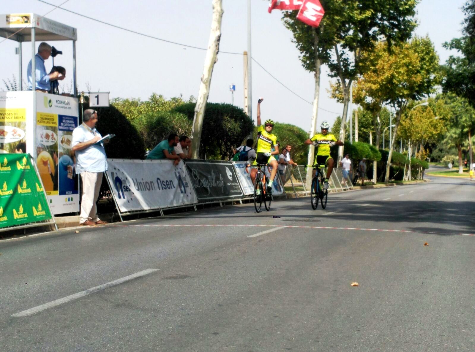
<svg viewBox="0 0 475 352">
<path fill-rule="evenodd" d="M 0 228 L 51 219 L 28 154 L 0 154 Z"/>
</svg>

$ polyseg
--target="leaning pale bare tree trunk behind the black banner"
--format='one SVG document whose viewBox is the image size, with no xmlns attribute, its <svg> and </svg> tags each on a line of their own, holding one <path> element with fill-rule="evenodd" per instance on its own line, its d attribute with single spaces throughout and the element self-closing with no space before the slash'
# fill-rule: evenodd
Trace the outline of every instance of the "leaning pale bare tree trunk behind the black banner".
<svg viewBox="0 0 475 352">
<path fill-rule="evenodd" d="M 199 84 L 198 98 L 196 99 L 195 116 L 193 118 L 193 128 L 191 130 L 192 158 L 199 157 L 199 144 L 201 140 L 201 130 L 206 109 L 206 102 L 209 96 L 209 86 L 213 74 L 214 64 L 218 61 L 219 41 L 221 39 L 221 19 L 223 18 L 222 0 L 213 0 L 213 20 L 211 22 L 211 33 L 209 34 L 208 51 L 206 52 L 205 65 L 201 83 Z"/>
</svg>

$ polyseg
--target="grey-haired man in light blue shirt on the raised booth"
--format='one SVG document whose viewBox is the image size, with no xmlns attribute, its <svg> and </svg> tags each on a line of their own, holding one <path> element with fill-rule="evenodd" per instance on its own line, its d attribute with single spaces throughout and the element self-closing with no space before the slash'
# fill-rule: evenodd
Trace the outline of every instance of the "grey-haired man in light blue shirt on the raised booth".
<svg viewBox="0 0 475 352">
<path fill-rule="evenodd" d="M 35 89 L 47 93 L 51 89 L 51 81 L 63 80 L 64 75 L 59 72 L 46 73 L 45 60 L 51 56 L 51 46 L 45 42 L 38 46 L 38 54 L 35 55 Z M 33 79 L 31 75 L 31 60 L 28 63 L 28 90 L 33 89 Z"/>
</svg>

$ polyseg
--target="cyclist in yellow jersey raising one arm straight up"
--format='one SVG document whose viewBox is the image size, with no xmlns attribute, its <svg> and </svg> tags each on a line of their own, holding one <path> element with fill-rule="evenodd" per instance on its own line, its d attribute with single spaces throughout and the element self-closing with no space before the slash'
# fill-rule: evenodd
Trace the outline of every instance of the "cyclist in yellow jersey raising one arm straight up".
<svg viewBox="0 0 475 352">
<path fill-rule="evenodd" d="M 267 192 L 272 192 L 272 182 L 274 182 L 274 178 L 277 174 L 277 168 L 279 164 L 273 155 L 279 155 L 279 146 L 277 145 L 277 136 L 272 133 L 274 129 L 274 121 L 273 120 L 266 120 L 264 126 L 261 124 L 261 102 L 264 99 L 259 98 L 257 101 L 257 157 L 256 160 L 252 163 L 251 168 L 251 180 L 254 184 L 256 179 L 257 173 L 257 164 L 266 164 L 268 163 L 270 167 L 272 167 L 270 173 L 269 184 L 267 185 Z M 275 148 L 272 151 L 272 147 Z M 257 190 L 260 192 L 260 190 Z"/>
</svg>

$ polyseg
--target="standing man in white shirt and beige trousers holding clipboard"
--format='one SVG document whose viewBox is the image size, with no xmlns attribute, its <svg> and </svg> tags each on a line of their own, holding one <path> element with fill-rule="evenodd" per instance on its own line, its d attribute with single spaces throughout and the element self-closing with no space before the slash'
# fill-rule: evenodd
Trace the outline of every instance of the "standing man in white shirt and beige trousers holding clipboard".
<svg viewBox="0 0 475 352">
<path fill-rule="evenodd" d="M 72 150 L 76 152 L 76 173 L 83 181 L 80 225 L 98 225 L 107 223 L 97 216 L 95 202 L 99 197 L 102 176 L 107 171 L 107 157 L 103 143 L 95 144 L 102 136 L 95 129 L 97 111 L 87 109 L 83 114 L 83 123 L 73 131 Z M 105 139 L 104 143 L 108 143 Z"/>
</svg>

